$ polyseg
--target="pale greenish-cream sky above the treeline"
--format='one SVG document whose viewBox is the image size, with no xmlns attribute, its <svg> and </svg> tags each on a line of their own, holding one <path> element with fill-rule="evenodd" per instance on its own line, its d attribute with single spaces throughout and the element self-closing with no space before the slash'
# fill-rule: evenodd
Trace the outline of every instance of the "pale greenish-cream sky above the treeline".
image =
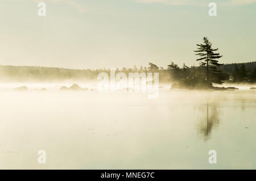
<svg viewBox="0 0 256 181">
<path fill-rule="evenodd" d="M 256 0 L 1 0 L 0 22 L 0 65 L 191 66 L 204 36 L 221 63 L 256 60 Z"/>
</svg>

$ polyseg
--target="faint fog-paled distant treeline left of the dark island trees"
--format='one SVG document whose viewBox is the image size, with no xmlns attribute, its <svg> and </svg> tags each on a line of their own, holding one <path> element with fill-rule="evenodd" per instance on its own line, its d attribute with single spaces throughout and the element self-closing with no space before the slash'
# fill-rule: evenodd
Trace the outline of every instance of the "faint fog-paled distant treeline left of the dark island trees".
<svg viewBox="0 0 256 181">
<path fill-rule="evenodd" d="M 154 65 L 154 64 L 152 64 Z M 156 66 L 156 65 L 155 65 Z M 157 67 L 157 66 L 156 66 Z M 115 69 L 115 72 L 123 72 L 126 75 L 129 73 L 148 73 L 159 72 L 159 79 L 162 82 L 171 80 L 171 75 L 163 68 L 154 69 L 152 67 Z M 79 80 L 79 81 L 93 81 L 97 79 L 99 73 L 110 74 L 110 69 L 64 69 L 64 68 L 47 68 L 40 66 L 4 66 L 0 65 L 0 81 L 65 81 L 65 80 Z"/>
</svg>

